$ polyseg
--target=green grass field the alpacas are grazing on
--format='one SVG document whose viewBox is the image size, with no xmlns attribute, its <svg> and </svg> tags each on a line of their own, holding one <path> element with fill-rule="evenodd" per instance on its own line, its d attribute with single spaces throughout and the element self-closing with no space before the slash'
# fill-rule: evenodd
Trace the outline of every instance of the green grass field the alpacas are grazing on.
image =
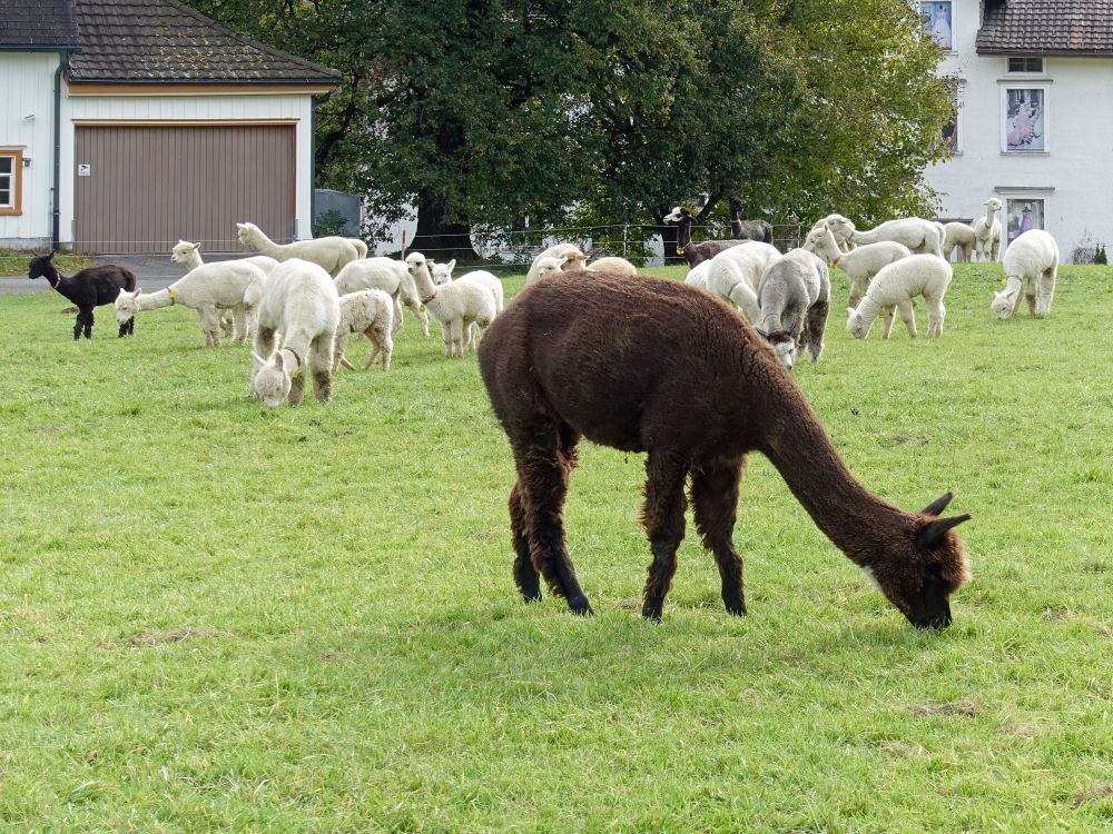
<svg viewBox="0 0 1113 834">
<path fill-rule="evenodd" d="M 930 341 L 851 340 L 836 277 L 795 376 L 868 488 L 973 514 L 942 633 L 757 456 L 750 615 L 689 524 L 643 622 L 643 458 L 590 445 L 598 616 L 524 605 L 475 359 L 408 312 L 390 374 L 267 413 L 188 310 L 75 342 L 65 300 L 0 297 L 0 830 L 1113 830 L 1113 270 L 1002 324 L 999 267 L 959 267 Z"/>
</svg>

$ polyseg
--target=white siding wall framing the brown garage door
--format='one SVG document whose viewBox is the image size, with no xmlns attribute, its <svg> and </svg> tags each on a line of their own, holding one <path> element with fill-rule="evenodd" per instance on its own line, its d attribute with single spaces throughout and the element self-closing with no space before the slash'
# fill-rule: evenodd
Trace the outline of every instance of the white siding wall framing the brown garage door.
<svg viewBox="0 0 1113 834">
<path fill-rule="evenodd" d="M 307 95 L 198 96 L 159 92 L 151 96 L 83 96 L 67 93 L 62 99 L 61 152 L 61 238 L 71 241 L 73 232 L 73 122 L 110 121 L 250 121 L 294 119 L 297 121 L 296 221 L 298 238 L 313 236 L 311 200 L 313 196 L 313 99 Z"/>
</svg>

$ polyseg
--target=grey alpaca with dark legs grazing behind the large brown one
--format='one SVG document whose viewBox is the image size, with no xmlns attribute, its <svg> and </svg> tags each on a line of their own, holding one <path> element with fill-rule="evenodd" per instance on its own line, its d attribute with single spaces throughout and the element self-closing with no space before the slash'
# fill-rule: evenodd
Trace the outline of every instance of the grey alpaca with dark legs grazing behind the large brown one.
<svg viewBox="0 0 1113 834">
<path fill-rule="evenodd" d="M 807 249 L 786 252 L 761 276 L 758 332 L 772 345 L 789 370 L 796 364 L 797 351 L 805 346 L 811 354 L 811 361 L 819 361 L 824 353 L 830 291 L 827 265 Z"/>
</svg>

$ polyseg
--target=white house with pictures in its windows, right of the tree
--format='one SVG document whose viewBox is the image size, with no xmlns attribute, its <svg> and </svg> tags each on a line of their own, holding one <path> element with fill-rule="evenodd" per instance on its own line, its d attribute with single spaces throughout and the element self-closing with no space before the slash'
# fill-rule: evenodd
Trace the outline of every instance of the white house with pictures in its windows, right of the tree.
<svg viewBox="0 0 1113 834">
<path fill-rule="evenodd" d="M 1113 244 L 1113 0 L 920 2 L 959 80 L 955 156 L 926 171 L 940 216 L 1001 198 L 1007 239 L 1043 228 L 1065 260 Z"/>
</svg>

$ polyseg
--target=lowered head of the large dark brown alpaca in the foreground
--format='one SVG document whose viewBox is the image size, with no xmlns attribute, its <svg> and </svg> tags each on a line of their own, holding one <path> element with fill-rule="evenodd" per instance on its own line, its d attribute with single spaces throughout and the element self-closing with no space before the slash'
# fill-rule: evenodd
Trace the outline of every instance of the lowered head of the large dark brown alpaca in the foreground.
<svg viewBox="0 0 1113 834">
<path fill-rule="evenodd" d="M 969 515 L 939 518 L 951 493 L 913 515 L 907 539 L 874 554 L 866 575 L 917 628 L 951 625 L 949 597 L 971 578 L 966 553 L 953 528 Z"/>
</svg>

